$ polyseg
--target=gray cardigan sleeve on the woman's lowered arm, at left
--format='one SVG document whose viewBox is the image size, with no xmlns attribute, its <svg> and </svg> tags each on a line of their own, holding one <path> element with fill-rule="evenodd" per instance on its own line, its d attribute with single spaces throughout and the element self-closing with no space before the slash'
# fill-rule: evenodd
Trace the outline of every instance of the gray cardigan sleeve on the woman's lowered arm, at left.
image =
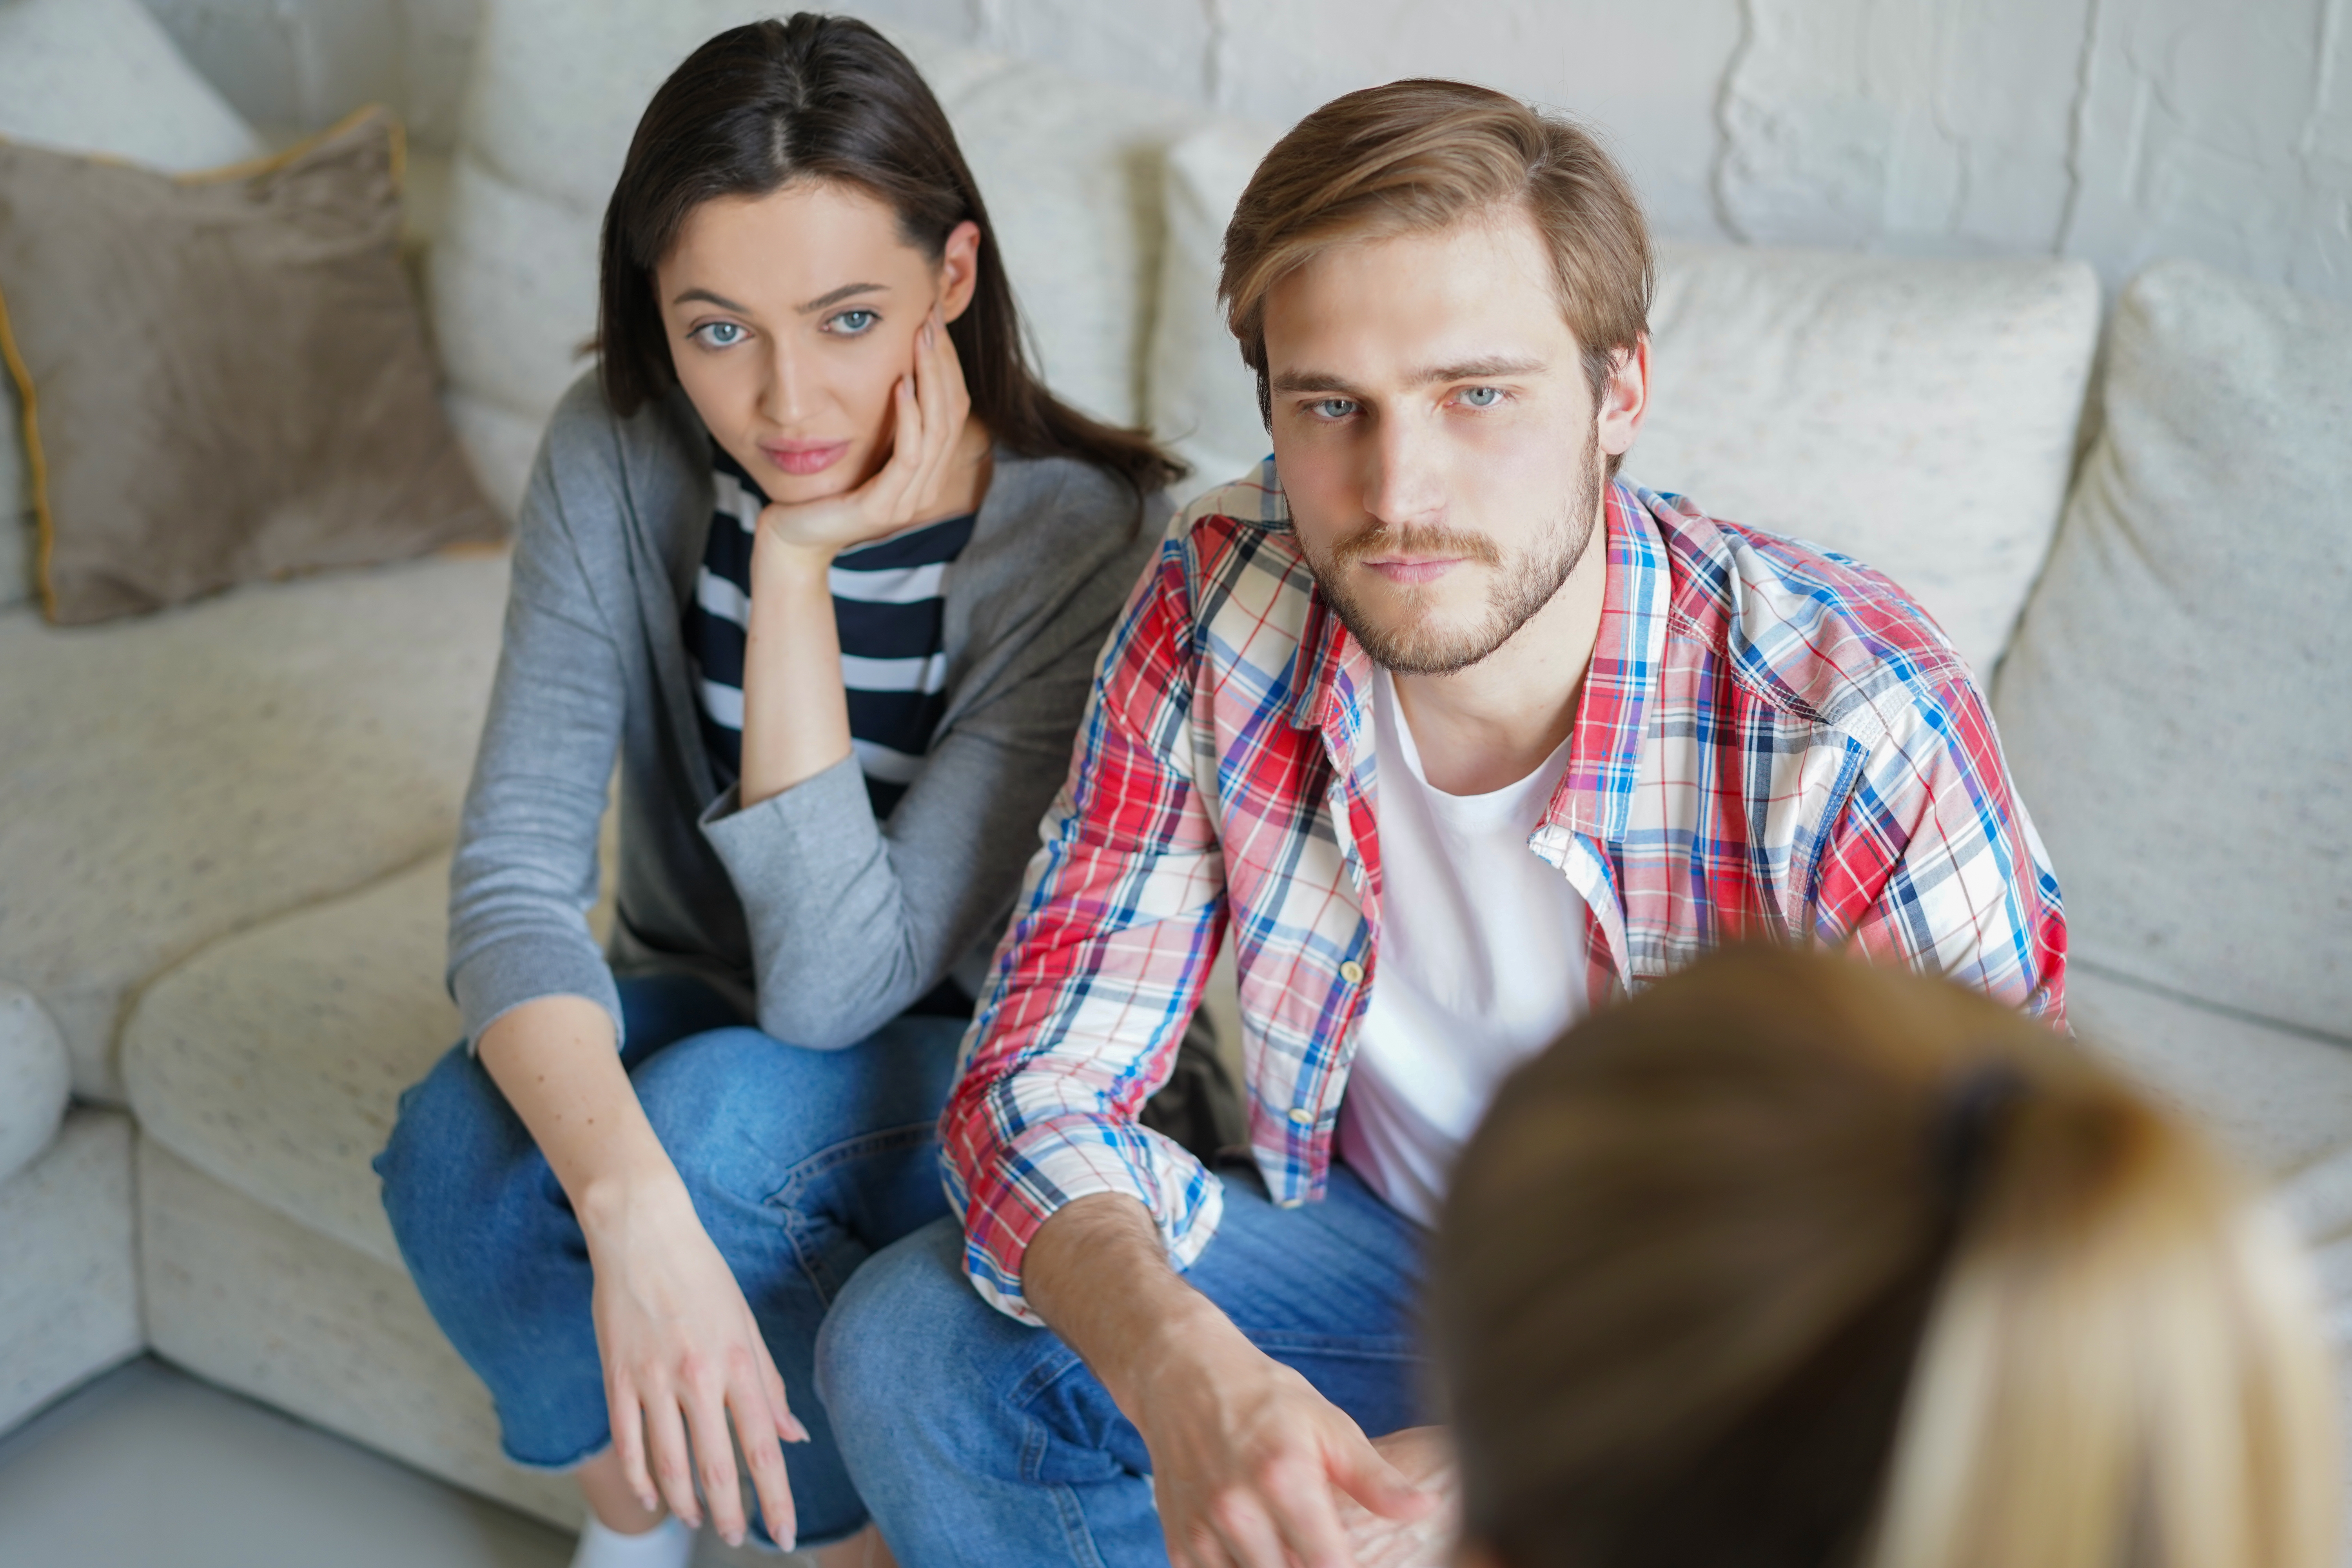
<svg viewBox="0 0 2352 1568">
<path fill-rule="evenodd" d="M 557 447 L 550 430 L 515 527 L 499 675 L 449 865 L 449 990 L 468 1044 L 555 994 L 588 997 L 621 1030 L 588 907 L 628 682 L 555 480 Z"/>
</svg>

